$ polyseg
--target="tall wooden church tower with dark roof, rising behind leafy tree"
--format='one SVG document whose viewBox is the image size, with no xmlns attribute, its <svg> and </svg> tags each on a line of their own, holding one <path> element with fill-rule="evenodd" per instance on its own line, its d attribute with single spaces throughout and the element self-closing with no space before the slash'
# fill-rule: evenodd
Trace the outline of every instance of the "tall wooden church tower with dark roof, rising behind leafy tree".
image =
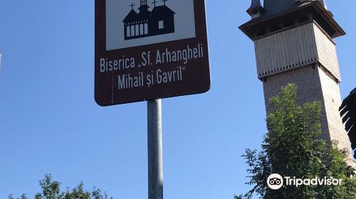
<svg viewBox="0 0 356 199">
<path fill-rule="evenodd" d="M 351 153 L 340 119 L 341 81 L 334 38 L 345 32 L 328 11 L 324 0 L 252 0 L 251 21 L 240 26 L 255 45 L 258 79 L 268 99 L 282 86 L 298 86 L 298 102 L 323 104 L 323 139 L 337 141 Z M 349 154 L 347 163 L 355 166 Z"/>
</svg>

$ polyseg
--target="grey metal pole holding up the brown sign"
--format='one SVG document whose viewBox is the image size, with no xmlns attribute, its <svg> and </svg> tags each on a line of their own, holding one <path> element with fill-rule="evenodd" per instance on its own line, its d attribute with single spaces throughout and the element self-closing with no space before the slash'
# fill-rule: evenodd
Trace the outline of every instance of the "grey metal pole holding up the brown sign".
<svg viewBox="0 0 356 199">
<path fill-rule="evenodd" d="M 148 199 L 163 199 L 161 99 L 147 101 Z"/>
</svg>

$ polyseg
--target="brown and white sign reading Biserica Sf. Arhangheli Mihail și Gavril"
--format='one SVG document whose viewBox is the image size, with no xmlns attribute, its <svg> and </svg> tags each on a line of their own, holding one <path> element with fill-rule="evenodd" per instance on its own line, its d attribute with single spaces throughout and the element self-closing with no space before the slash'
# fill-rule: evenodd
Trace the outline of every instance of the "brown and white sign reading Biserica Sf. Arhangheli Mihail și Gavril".
<svg viewBox="0 0 356 199">
<path fill-rule="evenodd" d="M 95 0 L 100 106 L 210 88 L 204 0 Z"/>
</svg>

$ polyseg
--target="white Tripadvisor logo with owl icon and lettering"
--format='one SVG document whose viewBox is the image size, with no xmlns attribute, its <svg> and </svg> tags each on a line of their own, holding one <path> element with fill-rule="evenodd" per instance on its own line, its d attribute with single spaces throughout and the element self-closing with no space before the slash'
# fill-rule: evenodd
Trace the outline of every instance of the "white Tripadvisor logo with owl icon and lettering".
<svg viewBox="0 0 356 199">
<path fill-rule="evenodd" d="M 283 185 L 292 185 L 295 187 L 298 187 L 300 185 L 341 185 L 342 179 L 336 179 L 333 177 L 330 178 L 291 178 L 288 176 L 285 176 L 284 178 L 277 174 L 273 173 L 271 176 L 268 176 L 267 178 L 267 185 L 269 188 L 273 190 L 278 190 L 280 189 Z"/>
</svg>

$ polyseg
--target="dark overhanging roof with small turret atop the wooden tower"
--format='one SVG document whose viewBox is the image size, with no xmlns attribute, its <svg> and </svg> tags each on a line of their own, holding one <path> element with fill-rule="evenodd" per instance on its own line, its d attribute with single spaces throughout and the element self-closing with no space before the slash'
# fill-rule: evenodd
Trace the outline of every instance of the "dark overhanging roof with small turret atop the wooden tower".
<svg viewBox="0 0 356 199">
<path fill-rule="evenodd" d="M 256 13 L 258 7 L 258 1 L 252 0 L 250 9 L 255 9 L 255 12 L 252 15 L 248 13 L 252 19 L 239 27 L 253 40 L 312 21 L 331 38 L 345 35 L 333 14 L 326 9 L 325 0 L 264 0 L 264 8 L 260 8 L 259 14 Z"/>
</svg>

